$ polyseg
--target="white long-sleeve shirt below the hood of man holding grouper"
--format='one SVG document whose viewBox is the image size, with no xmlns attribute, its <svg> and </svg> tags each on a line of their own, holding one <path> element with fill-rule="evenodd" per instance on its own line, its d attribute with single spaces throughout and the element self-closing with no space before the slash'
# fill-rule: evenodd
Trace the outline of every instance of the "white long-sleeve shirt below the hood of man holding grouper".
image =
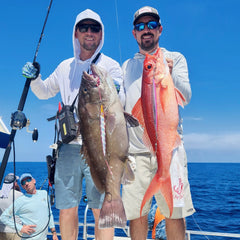
<svg viewBox="0 0 240 240">
<path fill-rule="evenodd" d="M 43 81 L 39 75 L 36 80 L 32 81 L 31 89 L 39 99 L 48 99 L 60 92 L 64 105 L 71 105 L 79 92 L 82 73 L 89 69 L 90 63 L 90 59 L 86 61 L 77 58 L 64 60 L 46 80 Z M 110 76 L 122 86 L 122 70 L 116 61 L 102 53 L 96 64 L 107 70 Z M 123 87 L 120 88 L 120 99 L 124 98 L 122 91 Z"/>
</svg>

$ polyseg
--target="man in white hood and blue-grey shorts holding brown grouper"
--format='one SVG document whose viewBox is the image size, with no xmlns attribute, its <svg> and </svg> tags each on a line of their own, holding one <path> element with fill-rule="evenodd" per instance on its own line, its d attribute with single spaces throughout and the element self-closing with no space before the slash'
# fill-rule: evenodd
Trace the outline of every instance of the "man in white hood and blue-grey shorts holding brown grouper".
<svg viewBox="0 0 240 240">
<path fill-rule="evenodd" d="M 31 82 L 31 89 L 39 99 L 54 97 L 61 94 L 64 105 L 75 104 L 79 93 L 83 71 L 91 73 L 90 65 L 95 64 L 105 69 L 119 88 L 119 97 L 124 101 L 122 87 L 122 70 L 115 60 L 101 53 L 104 44 L 104 24 L 100 16 L 90 9 L 79 13 L 73 27 L 74 57 L 62 61 L 55 71 L 45 80 L 41 79 L 40 68 L 32 64 L 23 67 L 23 75 L 35 79 Z M 36 63 L 34 64 L 36 67 Z M 75 102 L 74 102 L 75 101 Z M 77 114 L 76 114 L 77 115 Z M 76 119 L 78 122 L 78 120 Z M 62 140 L 64 136 L 61 136 Z M 64 142 L 64 141 L 63 141 Z M 98 219 L 102 207 L 104 194 L 96 189 L 90 168 L 85 158 L 80 154 L 82 146 L 81 136 L 59 147 L 56 172 L 54 176 L 56 208 L 60 209 L 59 222 L 63 240 L 75 240 L 78 236 L 78 206 L 82 198 L 82 180 L 85 178 L 88 206 L 92 209 L 95 219 L 95 239 L 112 240 L 113 228 L 98 228 Z"/>
</svg>

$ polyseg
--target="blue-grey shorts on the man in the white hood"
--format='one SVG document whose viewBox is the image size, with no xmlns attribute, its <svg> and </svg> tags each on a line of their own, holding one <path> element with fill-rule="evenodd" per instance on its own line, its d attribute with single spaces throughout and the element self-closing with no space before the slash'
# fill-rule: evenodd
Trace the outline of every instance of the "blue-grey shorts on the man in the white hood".
<svg viewBox="0 0 240 240">
<path fill-rule="evenodd" d="M 100 209 L 104 194 L 96 189 L 89 166 L 80 154 L 81 145 L 62 144 L 55 170 L 56 208 L 68 209 L 79 205 L 82 197 L 82 181 L 86 181 L 89 208 Z"/>
</svg>

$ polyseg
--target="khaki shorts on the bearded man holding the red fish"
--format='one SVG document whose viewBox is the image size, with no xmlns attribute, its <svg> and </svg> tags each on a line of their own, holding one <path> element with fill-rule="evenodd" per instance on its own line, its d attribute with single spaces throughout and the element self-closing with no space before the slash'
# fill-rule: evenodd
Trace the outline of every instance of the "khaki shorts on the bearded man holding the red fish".
<svg viewBox="0 0 240 240">
<path fill-rule="evenodd" d="M 185 150 L 184 159 L 182 161 L 184 180 L 183 180 L 183 204 L 182 207 L 174 207 L 171 218 L 180 219 L 192 215 L 195 210 L 192 203 L 190 186 L 188 182 L 187 158 Z M 136 160 L 135 180 L 133 183 L 123 185 L 123 204 L 128 220 L 133 220 L 140 217 L 140 207 L 143 196 L 157 171 L 157 161 L 148 153 L 132 155 Z M 161 195 L 160 191 L 155 194 L 155 199 L 160 208 L 161 213 L 165 217 L 169 217 L 168 206 Z M 147 215 L 151 208 L 152 199 L 149 200 L 142 211 L 142 216 Z"/>
</svg>

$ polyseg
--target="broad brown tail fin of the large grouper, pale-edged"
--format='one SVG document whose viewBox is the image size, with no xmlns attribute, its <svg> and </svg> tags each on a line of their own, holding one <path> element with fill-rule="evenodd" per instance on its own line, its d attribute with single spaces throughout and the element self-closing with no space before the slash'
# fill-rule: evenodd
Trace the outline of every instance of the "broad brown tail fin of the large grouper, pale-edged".
<svg viewBox="0 0 240 240">
<path fill-rule="evenodd" d="M 110 200 L 112 198 L 110 193 L 105 194 L 105 199 L 99 215 L 99 229 L 102 228 L 124 228 L 127 223 L 125 210 L 123 207 L 122 199 L 119 197 L 116 200 Z"/>
</svg>

